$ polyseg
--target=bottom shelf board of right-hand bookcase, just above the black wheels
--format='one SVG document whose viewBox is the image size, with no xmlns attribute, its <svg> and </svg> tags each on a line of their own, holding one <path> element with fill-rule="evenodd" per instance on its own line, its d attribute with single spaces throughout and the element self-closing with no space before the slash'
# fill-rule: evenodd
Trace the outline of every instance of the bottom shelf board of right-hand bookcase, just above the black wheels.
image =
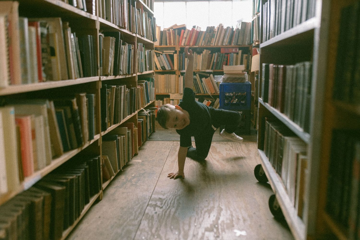
<svg viewBox="0 0 360 240">
<path fill-rule="evenodd" d="M 275 172 L 273 166 L 267 159 L 264 151 L 258 149 L 258 155 L 261 159 L 261 166 L 264 169 L 267 179 L 271 185 L 271 188 L 276 195 L 276 199 L 282 209 L 286 222 L 294 235 L 296 240 L 305 240 L 305 224 L 300 217 L 297 216 L 296 210 L 293 207 L 288 194 L 286 193 L 283 181 L 278 173 Z"/>
</svg>

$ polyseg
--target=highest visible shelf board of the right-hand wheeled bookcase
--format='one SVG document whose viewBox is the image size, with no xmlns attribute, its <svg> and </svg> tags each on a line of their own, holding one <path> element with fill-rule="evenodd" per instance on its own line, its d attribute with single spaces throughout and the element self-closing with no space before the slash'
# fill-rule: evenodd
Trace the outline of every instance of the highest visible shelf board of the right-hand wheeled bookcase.
<svg viewBox="0 0 360 240">
<path fill-rule="evenodd" d="M 307 35 L 306 33 L 309 33 L 310 31 L 317 28 L 319 25 L 319 21 L 316 17 L 310 18 L 309 20 L 273 37 L 272 39 L 269 39 L 265 42 L 260 43 L 260 48 L 266 47 L 269 45 L 282 45 L 289 44 L 289 42 L 293 43 L 295 39 L 298 39 L 298 41 L 302 41 L 303 38 Z M 313 36 L 312 34 L 309 34 Z"/>
</svg>

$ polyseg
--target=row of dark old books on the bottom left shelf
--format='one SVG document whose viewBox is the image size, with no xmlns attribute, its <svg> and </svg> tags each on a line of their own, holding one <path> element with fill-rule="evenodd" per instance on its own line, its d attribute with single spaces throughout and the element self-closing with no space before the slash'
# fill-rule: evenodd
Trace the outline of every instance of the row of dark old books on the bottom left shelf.
<svg viewBox="0 0 360 240">
<path fill-rule="evenodd" d="M 100 156 L 85 159 L 72 159 L 1 205 L 1 238 L 61 239 L 102 189 Z"/>
</svg>

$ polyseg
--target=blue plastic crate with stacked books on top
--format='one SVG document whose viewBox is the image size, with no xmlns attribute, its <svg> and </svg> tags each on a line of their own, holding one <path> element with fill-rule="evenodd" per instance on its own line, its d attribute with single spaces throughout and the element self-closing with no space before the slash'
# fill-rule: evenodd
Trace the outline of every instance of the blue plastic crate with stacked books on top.
<svg viewBox="0 0 360 240">
<path fill-rule="evenodd" d="M 251 109 L 251 82 L 220 83 L 220 107 Z"/>
</svg>

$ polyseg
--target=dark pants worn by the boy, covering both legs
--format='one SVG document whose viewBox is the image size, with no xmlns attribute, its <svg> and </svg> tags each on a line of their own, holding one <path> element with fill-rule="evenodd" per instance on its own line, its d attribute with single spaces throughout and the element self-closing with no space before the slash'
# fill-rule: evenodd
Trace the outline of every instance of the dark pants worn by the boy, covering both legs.
<svg viewBox="0 0 360 240">
<path fill-rule="evenodd" d="M 212 125 L 215 128 L 219 128 L 220 125 L 225 125 L 225 131 L 228 133 L 233 133 L 241 121 L 240 113 L 234 111 L 210 107 L 210 114 Z M 188 148 L 188 154 L 186 156 L 194 160 L 204 160 L 209 153 L 214 132 L 215 130 L 211 128 L 207 133 L 195 136 L 196 148 Z"/>
</svg>

